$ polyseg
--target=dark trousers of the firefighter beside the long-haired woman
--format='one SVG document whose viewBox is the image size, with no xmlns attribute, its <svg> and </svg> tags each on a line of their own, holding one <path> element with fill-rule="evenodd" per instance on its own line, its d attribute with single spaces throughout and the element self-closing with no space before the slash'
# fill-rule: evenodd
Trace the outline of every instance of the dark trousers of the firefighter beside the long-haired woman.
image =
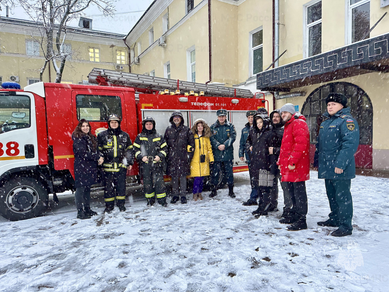
<svg viewBox="0 0 389 292">
<path fill-rule="evenodd" d="M 104 192 L 104 201 L 106 201 L 106 206 L 114 205 L 115 198 L 116 205 L 124 205 L 125 175 L 125 168 L 118 172 L 104 172 L 104 185 L 106 187 L 106 190 Z"/>
</svg>

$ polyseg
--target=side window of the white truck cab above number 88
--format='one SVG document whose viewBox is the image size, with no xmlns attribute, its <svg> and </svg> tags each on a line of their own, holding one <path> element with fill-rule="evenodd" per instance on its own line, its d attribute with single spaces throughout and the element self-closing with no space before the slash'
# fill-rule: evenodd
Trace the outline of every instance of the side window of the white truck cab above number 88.
<svg viewBox="0 0 389 292">
<path fill-rule="evenodd" d="M 29 128 L 31 101 L 25 95 L 0 94 L 0 134 Z"/>
</svg>

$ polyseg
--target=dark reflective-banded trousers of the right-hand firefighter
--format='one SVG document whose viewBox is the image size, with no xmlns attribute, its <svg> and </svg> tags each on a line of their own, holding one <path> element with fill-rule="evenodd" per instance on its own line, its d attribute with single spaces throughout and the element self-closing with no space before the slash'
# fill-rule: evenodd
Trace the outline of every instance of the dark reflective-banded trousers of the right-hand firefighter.
<svg viewBox="0 0 389 292">
<path fill-rule="evenodd" d="M 142 163 L 143 190 L 146 198 L 157 199 L 166 197 L 165 182 L 163 181 L 163 166 Z"/>
</svg>

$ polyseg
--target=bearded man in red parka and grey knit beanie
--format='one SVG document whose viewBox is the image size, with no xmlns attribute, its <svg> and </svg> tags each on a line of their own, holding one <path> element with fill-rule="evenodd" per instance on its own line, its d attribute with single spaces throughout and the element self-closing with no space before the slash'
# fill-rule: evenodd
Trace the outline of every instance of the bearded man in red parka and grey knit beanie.
<svg viewBox="0 0 389 292">
<path fill-rule="evenodd" d="M 289 231 L 298 231 L 307 229 L 305 181 L 309 180 L 309 130 L 305 117 L 296 112 L 293 104 L 285 104 L 280 112 L 285 128 L 277 164 L 293 202 L 290 216 L 282 223 L 291 224 L 288 226 Z"/>
</svg>

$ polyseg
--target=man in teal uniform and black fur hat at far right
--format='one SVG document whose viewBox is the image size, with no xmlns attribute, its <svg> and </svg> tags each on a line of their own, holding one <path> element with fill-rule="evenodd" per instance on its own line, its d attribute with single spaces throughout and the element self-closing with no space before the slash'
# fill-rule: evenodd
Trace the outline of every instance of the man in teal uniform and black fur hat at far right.
<svg viewBox="0 0 389 292">
<path fill-rule="evenodd" d="M 331 233 L 335 237 L 352 235 L 353 199 L 350 187 L 355 178 L 354 154 L 359 145 L 359 127 L 347 107 L 347 97 L 330 93 L 326 98 L 327 111 L 321 123 L 314 166 L 318 178 L 325 179 L 331 213 L 319 226 L 339 227 Z"/>
</svg>

